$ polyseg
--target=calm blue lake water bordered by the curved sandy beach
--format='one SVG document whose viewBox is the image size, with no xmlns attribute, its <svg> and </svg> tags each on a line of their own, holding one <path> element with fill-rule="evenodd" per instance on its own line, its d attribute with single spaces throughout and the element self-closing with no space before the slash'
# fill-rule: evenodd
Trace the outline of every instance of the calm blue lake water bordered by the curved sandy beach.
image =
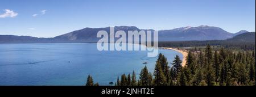
<svg viewBox="0 0 256 97">
<path fill-rule="evenodd" d="M 176 54 L 183 58 L 174 50 L 160 52 L 169 63 Z M 0 85 L 85 85 L 88 74 L 109 85 L 133 70 L 138 77 L 143 62 L 153 73 L 156 59 L 147 51 L 98 51 L 96 44 L 0 44 Z"/>
</svg>

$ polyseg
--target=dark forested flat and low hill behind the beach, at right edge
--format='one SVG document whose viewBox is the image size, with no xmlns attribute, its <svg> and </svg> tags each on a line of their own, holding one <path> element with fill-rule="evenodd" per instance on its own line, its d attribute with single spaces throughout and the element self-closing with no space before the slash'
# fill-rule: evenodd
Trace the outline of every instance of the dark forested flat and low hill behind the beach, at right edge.
<svg viewBox="0 0 256 97">
<path fill-rule="evenodd" d="M 204 47 L 207 44 L 225 48 L 253 50 L 255 49 L 255 32 L 242 33 L 226 40 L 160 41 L 159 47 Z"/>
</svg>

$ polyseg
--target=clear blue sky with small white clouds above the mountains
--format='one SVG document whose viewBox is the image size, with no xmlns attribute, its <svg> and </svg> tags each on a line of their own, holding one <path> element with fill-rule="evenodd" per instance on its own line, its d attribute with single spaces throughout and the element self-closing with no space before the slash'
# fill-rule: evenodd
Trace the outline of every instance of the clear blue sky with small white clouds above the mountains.
<svg viewBox="0 0 256 97">
<path fill-rule="evenodd" d="M 159 30 L 200 25 L 232 33 L 255 31 L 255 0 L 0 1 L 0 35 L 54 37 L 85 27 Z"/>
</svg>

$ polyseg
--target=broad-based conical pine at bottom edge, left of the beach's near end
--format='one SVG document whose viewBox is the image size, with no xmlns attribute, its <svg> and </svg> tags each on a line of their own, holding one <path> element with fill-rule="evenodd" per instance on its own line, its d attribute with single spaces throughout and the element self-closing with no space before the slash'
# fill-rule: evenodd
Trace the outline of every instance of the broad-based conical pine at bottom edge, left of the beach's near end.
<svg viewBox="0 0 256 97">
<path fill-rule="evenodd" d="M 161 68 L 161 65 L 158 62 L 156 62 L 156 65 L 155 65 L 154 76 L 155 76 L 154 85 L 166 86 L 168 84 L 166 77 L 164 76 L 163 70 Z"/>
</svg>

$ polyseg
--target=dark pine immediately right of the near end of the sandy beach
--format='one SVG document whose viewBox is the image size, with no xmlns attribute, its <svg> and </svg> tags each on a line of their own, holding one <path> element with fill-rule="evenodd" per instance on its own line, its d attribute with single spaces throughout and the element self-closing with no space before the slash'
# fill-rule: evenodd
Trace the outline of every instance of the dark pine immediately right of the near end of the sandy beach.
<svg viewBox="0 0 256 97">
<path fill-rule="evenodd" d="M 187 60 L 186 65 L 190 69 L 191 74 L 195 74 L 195 72 L 196 72 L 195 59 L 194 59 L 194 56 L 193 56 L 193 53 L 191 52 L 191 50 L 189 50 L 186 60 Z"/>
</svg>

